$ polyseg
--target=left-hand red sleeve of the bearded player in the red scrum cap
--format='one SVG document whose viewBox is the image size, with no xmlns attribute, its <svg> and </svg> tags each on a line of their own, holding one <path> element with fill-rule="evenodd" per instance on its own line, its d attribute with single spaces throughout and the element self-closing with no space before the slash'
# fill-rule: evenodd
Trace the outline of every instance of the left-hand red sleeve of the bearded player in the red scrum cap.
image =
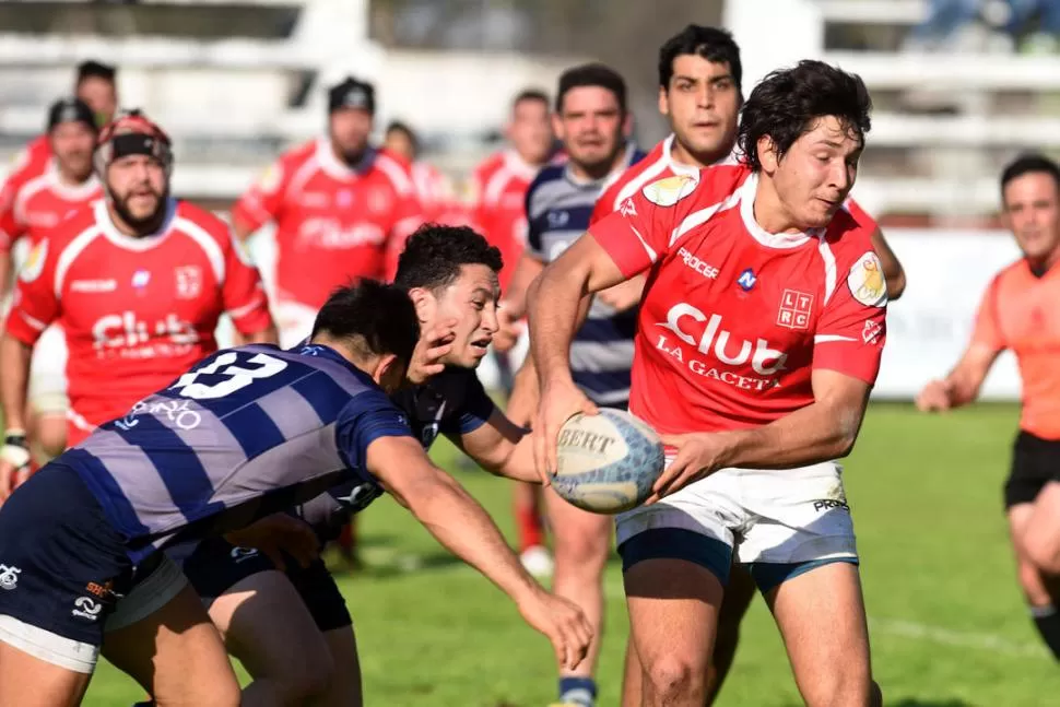
<svg viewBox="0 0 1060 707">
<path fill-rule="evenodd" d="M 36 343 L 48 325 L 59 318 L 59 295 L 56 292 L 58 250 L 55 238 L 40 238 L 19 271 L 7 330 L 11 337 L 28 346 Z"/>
</svg>

